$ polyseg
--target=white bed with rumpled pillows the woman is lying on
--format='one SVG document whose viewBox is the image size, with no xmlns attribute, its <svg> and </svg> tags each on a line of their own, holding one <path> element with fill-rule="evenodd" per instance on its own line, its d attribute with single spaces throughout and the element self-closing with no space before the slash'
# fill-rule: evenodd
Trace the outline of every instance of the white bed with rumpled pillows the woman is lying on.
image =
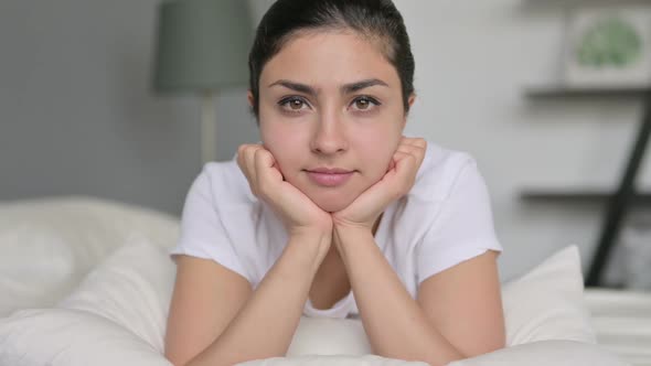
<svg viewBox="0 0 651 366">
<path fill-rule="evenodd" d="M 64 196 L 0 203 L 0 365 L 162 357 L 179 219 Z M 651 294 L 583 288 L 567 247 L 503 284 L 508 347 L 451 366 L 651 365 Z M 359 320 L 301 317 L 286 357 L 246 365 L 425 365 L 372 355 Z"/>
</svg>

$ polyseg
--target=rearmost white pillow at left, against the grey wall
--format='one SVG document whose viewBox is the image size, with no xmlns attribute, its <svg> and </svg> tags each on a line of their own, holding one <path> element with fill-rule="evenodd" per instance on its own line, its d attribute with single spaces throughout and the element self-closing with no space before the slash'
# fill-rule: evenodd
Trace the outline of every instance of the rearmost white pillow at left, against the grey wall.
<svg viewBox="0 0 651 366">
<path fill-rule="evenodd" d="M 0 202 L 0 316 L 52 306 L 132 233 L 172 246 L 179 219 L 88 196 Z"/>
</svg>

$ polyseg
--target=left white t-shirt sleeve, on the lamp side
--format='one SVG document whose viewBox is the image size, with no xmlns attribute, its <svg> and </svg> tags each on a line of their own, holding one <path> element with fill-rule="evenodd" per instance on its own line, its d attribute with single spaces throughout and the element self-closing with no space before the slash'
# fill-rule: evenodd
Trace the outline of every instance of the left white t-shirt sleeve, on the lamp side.
<svg viewBox="0 0 651 366">
<path fill-rule="evenodd" d="M 185 197 L 181 217 L 181 235 L 177 247 L 170 251 L 170 256 L 174 258 L 175 255 L 186 255 L 212 259 L 252 282 L 232 240 L 228 239 L 220 217 L 214 190 L 213 182 L 204 166 Z M 224 196 L 222 195 L 222 197 Z"/>
</svg>

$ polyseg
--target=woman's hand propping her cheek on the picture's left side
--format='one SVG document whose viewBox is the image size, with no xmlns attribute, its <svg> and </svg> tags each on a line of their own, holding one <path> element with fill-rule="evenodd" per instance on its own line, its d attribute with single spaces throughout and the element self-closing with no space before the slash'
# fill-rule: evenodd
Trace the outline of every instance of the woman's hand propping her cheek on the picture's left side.
<svg viewBox="0 0 651 366">
<path fill-rule="evenodd" d="M 330 214 L 284 180 L 274 155 L 262 144 L 242 144 L 237 149 L 237 165 L 253 194 L 280 215 L 290 236 L 314 232 L 331 235 Z"/>
</svg>

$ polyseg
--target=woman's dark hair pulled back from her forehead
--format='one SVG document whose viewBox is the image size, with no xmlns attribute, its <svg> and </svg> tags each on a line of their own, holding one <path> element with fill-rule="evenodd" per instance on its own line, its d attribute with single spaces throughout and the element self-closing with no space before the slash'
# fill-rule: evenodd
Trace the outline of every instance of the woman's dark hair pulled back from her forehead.
<svg viewBox="0 0 651 366">
<path fill-rule="evenodd" d="M 296 33 L 317 29 L 352 29 L 383 44 L 396 68 L 405 112 L 414 93 L 414 56 L 403 17 L 391 0 L 278 0 L 260 20 L 248 55 L 253 112 L 259 117 L 259 80 L 265 64 Z"/>
</svg>

